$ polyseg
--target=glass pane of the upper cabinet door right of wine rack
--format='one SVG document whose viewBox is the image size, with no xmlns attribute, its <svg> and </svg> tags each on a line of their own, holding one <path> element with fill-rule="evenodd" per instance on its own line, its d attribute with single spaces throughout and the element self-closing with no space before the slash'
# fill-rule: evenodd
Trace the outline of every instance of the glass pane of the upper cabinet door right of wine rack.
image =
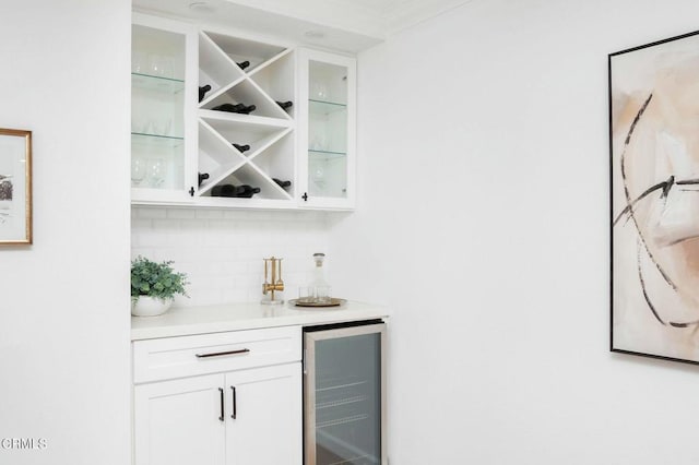
<svg viewBox="0 0 699 465">
<path fill-rule="evenodd" d="M 308 88 L 308 190 L 347 196 L 347 69 L 311 60 Z"/>
</svg>

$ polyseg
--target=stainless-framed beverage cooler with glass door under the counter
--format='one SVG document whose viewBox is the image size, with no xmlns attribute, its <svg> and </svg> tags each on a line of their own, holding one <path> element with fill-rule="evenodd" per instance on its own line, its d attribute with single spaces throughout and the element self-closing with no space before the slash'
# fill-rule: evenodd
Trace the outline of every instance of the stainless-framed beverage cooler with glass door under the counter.
<svg viewBox="0 0 699 465">
<path fill-rule="evenodd" d="M 304 330 L 304 463 L 386 464 L 386 323 Z"/>
</svg>

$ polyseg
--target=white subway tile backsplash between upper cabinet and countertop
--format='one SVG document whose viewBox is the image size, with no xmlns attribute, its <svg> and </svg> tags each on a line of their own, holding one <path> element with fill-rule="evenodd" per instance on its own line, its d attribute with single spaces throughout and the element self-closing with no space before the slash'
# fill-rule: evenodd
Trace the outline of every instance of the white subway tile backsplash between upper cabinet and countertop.
<svg viewBox="0 0 699 465">
<path fill-rule="evenodd" d="M 131 257 L 173 260 L 187 273 L 189 298 L 176 307 L 260 300 L 262 259 L 272 255 L 284 259 L 284 299 L 296 298 L 312 278 L 312 254 L 327 248 L 323 212 L 131 208 Z"/>
</svg>

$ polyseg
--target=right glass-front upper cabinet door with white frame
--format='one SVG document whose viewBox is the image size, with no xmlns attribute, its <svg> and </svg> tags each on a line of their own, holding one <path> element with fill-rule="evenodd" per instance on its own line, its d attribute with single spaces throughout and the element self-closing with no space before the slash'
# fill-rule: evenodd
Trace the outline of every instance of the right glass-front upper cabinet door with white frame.
<svg viewBox="0 0 699 465">
<path fill-rule="evenodd" d="M 356 60 L 309 49 L 298 55 L 300 205 L 353 208 Z"/>
</svg>

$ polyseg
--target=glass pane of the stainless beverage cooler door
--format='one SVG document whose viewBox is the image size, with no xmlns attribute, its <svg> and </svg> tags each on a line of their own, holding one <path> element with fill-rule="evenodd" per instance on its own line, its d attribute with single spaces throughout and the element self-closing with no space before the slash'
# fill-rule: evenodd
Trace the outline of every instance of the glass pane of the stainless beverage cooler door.
<svg viewBox="0 0 699 465">
<path fill-rule="evenodd" d="M 381 463 L 381 335 L 316 342 L 316 463 Z"/>
</svg>

